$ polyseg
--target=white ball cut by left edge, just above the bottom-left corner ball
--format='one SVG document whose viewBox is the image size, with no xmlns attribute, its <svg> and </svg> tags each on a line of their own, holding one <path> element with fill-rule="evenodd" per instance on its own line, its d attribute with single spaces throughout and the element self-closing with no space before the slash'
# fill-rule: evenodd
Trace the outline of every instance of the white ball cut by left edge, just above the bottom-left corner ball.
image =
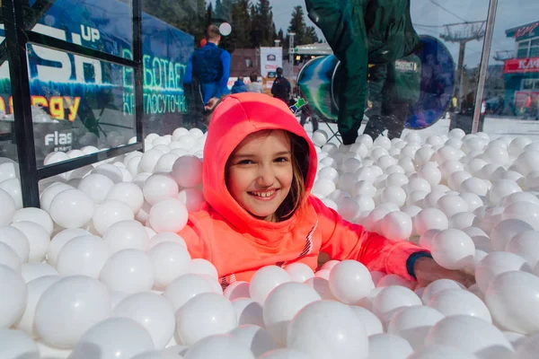
<svg viewBox="0 0 539 359">
<path fill-rule="evenodd" d="M 0 265 L 0 288 L 4 293 L 0 305 L 0 328 L 10 328 L 24 313 L 28 289 L 21 274 L 4 265 Z"/>
</svg>

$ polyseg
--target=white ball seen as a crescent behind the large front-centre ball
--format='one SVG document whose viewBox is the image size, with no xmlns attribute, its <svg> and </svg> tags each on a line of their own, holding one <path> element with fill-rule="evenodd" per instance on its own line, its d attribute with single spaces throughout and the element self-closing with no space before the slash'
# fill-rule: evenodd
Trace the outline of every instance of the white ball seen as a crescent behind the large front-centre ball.
<svg viewBox="0 0 539 359">
<path fill-rule="evenodd" d="M 320 295 L 309 285 L 296 282 L 278 285 L 264 302 L 264 327 L 279 346 L 286 346 L 290 320 L 305 305 L 320 300 Z"/>
</svg>

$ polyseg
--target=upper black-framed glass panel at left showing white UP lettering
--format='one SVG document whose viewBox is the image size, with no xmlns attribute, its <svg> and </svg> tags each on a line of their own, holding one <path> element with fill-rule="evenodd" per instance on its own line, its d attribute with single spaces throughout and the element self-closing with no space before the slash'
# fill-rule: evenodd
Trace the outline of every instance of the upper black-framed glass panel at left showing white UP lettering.
<svg viewBox="0 0 539 359">
<path fill-rule="evenodd" d="M 133 48 L 130 0 L 30 0 L 31 31 L 118 57 Z"/>
</svg>

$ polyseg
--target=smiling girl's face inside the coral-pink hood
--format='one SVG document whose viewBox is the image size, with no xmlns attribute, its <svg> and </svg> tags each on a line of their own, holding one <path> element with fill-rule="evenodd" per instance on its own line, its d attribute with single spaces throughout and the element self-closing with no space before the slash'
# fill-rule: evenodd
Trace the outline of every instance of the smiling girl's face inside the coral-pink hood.
<svg viewBox="0 0 539 359">
<path fill-rule="evenodd" d="M 240 206 L 265 221 L 275 221 L 292 179 L 290 139 L 284 131 L 251 134 L 238 144 L 227 168 L 226 186 Z"/>
</svg>

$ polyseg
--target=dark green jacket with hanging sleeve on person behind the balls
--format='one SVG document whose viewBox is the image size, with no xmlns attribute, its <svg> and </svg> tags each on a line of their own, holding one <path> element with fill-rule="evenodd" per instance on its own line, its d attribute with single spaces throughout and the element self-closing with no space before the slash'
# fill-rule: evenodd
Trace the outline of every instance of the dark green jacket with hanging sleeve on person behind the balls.
<svg viewBox="0 0 539 359">
<path fill-rule="evenodd" d="M 343 144 L 353 144 L 366 109 L 368 64 L 393 63 L 420 47 L 410 0 L 305 0 L 305 6 L 340 60 L 337 123 Z"/>
</svg>

